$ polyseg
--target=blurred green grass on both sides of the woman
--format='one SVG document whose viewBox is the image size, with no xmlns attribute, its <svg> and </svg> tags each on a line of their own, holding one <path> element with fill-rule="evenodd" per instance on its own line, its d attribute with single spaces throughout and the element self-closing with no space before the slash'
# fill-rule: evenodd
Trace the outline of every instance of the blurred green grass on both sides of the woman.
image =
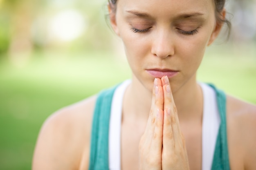
<svg viewBox="0 0 256 170">
<path fill-rule="evenodd" d="M 215 57 L 212 50 L 198 79 L 256 104 L 254 55 Z M 23 66 L 0 60 L 1 170 L 31 169 L 40 126 L 50 114 L 130 77 L 127 63 L 106 53 L 34 54 L 32 59 Z"/>
</svg>

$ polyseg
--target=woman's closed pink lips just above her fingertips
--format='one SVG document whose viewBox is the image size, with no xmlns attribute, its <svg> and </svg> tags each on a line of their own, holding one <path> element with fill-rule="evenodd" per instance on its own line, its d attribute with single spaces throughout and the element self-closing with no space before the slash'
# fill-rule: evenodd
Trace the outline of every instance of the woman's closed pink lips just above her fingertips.
<svg viewBox="0 0 256 170">
<path fill-rule="evenodd" d="M 179 73 L 179 71 L 175 71 L 175 70 L 169 70 L 169 69 L 148 69 L 146 70 L 146 72 L 155 77 L 155 78 L 162 78 L 163 76 L 167 76 L 169 78 L 174 77 L 175 75 L 177 75 L 177 73 Z"/>
</svg>

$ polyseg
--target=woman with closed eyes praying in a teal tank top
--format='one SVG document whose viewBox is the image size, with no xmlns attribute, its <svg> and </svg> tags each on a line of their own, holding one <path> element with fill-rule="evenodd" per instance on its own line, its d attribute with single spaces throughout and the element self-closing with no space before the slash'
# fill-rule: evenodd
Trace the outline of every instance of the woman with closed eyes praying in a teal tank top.
<svg viewBox="0 0 256 170">
<path fill-rule="evenodd" d="M 255 170 L 256 106 L 196 81 L 224 4 L 109 2 L 132 79 L 49 117 L 33 169 Z"/>
</svg>

